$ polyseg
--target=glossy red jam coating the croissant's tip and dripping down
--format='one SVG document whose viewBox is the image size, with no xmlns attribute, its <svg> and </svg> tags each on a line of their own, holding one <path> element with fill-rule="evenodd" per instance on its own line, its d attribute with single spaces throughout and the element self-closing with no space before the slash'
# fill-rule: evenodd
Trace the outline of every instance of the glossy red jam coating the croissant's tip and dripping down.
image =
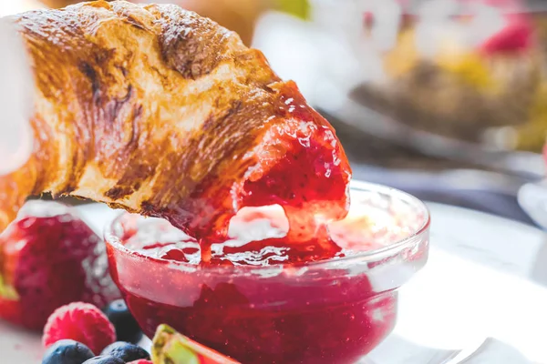
<svg viewBox="0 0 547 364">
<path fill-rule="evenodd" d="M 212 259 L 212 244 L 228 238 L 230 220 L 243 207 L 279 205 L 290 222 L 285 243 L 303 243 L 302 248 L 325 254 L 339 250 L 328 239 L 324 225 L 347 214 L 351 168 L 344 148 L 333 127 L 307 105 L 294 82 L 268 88 L 272 98 L 260 106 L 253 104 L 250 115 L 243 113 L 248 118 L 267 111 L 259 129 L 263 131 L 245 141 L 241 154 L 222 160 L 222 165 L 233 168 L 195 186 L 197 182 L 189 178 L 188 186 L 180 187 L 193 190 L 188 198 L 175 198 L 176 205 L 162 211 L 146 211 L 145 215 L 166 218 L 198 238 L 205 263 Z M 206 167 L 207 163 L 196 165 Z"/>
</svg>

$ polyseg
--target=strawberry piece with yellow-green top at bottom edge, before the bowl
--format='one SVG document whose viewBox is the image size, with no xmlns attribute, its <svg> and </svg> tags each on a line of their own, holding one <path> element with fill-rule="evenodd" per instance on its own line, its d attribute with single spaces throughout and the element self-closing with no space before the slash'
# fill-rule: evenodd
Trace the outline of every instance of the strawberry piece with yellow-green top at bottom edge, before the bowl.
<svg viewBox="0 0 547 364">
<path fill-rule="evenodd" d="M 168 325 L 160 325 L 152 340 L 154 364 L 237 364 L 218 352 L 188 339 Z"/>
</svg>

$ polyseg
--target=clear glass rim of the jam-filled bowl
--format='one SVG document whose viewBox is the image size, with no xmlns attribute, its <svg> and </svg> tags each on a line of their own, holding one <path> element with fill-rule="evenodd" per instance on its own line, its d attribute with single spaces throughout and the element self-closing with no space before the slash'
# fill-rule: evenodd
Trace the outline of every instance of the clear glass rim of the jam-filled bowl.
<svg viewBox="0 0 547 364">
<path fill-rule="evenodd" d="M 139 253 L 138 251 L 126 248 L 125 245 L 123 245 L 120 242 L 120 239 L 114 233 L 114 230 L 116 226 L 119 224 L 119 221 L 123 217 L 132 215 L 132 214 L 129 214 L 129 212 L 127 211 L 121 212 L 118 217 L 116 217 L 113 221 L 107 224 L 107 227 L 105 227 L 104 229 L 104 240 L 107 247 L 111 247 L 117 250 L 118 252 L 128 255 L 130 258 L 133 258 L 136 260 L 148 261 L 148 262 L 153 262 L 153 263 L 158 263 L 163 265 L 169 264 L 169 268 L 179 268 L 184 271 L 193 272 L 196 270 L 203 270 L 203 271 L 206 271 L 207 273 L 220 272 L 220 273 L 226 274 L 226 272 L 229 272 L 229 273 L 253 273 L 253 272 L 261 273 L 261 272 L 270 272 L 270 271 L 277 272 L 280 269 L 285 271 L 285 270 L 294 270 L 294 269 L 298 270 L 302 268 L 304 268 L 305 270 L 309 268 L 314 268 L 314 269 L 337 268 L 340 266 L 347 266 L 348 263 L 349 265 L 351 265 L 351 263 L 353 262 L 370 263 L 370 262 L 375 262 L 381 259 L 396 256 L 399 252 L 419 244 L 423 240 L 423 238 L 427 238 L 429 227 L 431 224 L 431 215 L 426 204 L 423 201 L 421 201 L 418 197 L 414 197 L 408 194 L 407 192 L 401 191 L 397 188 L 387 187 L 387 186 L 379 185 L 376 183 L 369 183 L 369 182 L 357 181 L 357 180 L 350 181 L 349 189 L 350 191 L 376 192 L 378 194 L 381 194 L 387 197 L 396 197 L 397 200 L 405 202 L 409 206 L 421 210 L 419 212 L 423 216 L 423 222 L 414 231 L 409 233 L 407 237 L 398 239 L 397 241 L 394 241 L 383 248 L 363 251 L 363 252 L 351 255 L 349 257 L 329 258 L 325 260 L 308 262 L 301 265 L 277 264 L 277 265 L 266 266 L 266 267 L 250 266 L 250 265 L 249 266 L 207 267 L 207 266 L 195 265 L 195 264 L 181 262 L 181 261 L 154 258 L 154 257 L 144 255 L 142 253 Z"/>
</svg>

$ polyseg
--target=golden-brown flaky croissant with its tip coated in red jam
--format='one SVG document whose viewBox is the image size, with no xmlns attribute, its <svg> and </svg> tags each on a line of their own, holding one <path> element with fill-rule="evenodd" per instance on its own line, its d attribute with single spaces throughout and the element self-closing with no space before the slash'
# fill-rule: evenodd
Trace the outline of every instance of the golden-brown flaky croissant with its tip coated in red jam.
<svg viewBox="0 0 547 364">
<path fill-rule="evenodd" d="M 176 5 L 125 1 L 13 20 L 34 69 L 36 143 L 0 177 L 0 230 L 45 191 L 197 238 L 225 238 L 243 207 L 346 215 L 351 171 L 332 126 L 238 35 Z"/>
</svg>

